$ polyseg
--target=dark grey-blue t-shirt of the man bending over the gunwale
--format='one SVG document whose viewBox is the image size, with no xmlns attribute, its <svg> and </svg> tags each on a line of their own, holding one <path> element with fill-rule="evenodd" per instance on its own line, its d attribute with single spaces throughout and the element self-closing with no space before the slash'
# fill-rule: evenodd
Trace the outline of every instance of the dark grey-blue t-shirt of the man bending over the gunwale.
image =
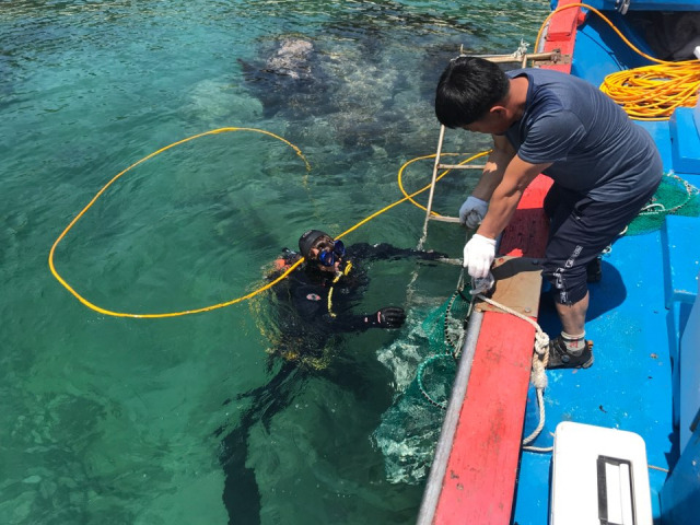
<svg viewBox="0 0 700 525">
<path fill-rule="evenodd" d="M 649 133 L 585 80 L 546 69 L 509 71 L 528 80 L 522 118 L 505 132 L 517 156 L 553 163 L 542 173 L 594 200 L 618 202 L 658 183 L 663 166 Z"/>
</svg>

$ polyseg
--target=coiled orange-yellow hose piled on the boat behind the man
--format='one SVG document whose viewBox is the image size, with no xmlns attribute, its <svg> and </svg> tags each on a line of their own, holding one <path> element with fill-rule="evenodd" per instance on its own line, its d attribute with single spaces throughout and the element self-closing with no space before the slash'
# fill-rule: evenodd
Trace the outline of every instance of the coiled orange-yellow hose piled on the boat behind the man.
<svg viewBox="0 0 700 525">
<path fill-rule="evenodd" d="M 668 120 L 676 107 L 692 107 L 697 104 L 698 90 L 700 89 L 700 61 L 673 62 L 646 55 L 627 39 L 600 11 L 586 3 L 570 3 L 549 13 L 537 34 L 536 46 L 541 42 L 549 20 L 556 13 L 572 8 L 584 8 L 594 12 L 617 33 L 630 49 L 656 63 L 656 66 L 618 71 L 603 80 L 600 91 L 622 106 L 630 118 Z"/>
</svg>

